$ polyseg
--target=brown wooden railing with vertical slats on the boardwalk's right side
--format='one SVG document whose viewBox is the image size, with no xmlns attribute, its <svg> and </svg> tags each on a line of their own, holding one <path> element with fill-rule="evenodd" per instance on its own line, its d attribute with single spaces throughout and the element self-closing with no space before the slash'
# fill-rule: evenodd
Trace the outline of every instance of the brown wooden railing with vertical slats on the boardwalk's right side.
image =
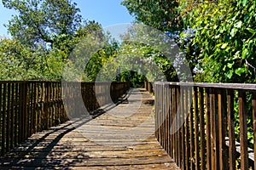
<svg viewBox="0 0 256 170">
<path fill-rule="evenodd" d="M 256 167 L 256 84 L 156 82 L 154 93 L 155 136 L 179 167 Z"/>
</svg>

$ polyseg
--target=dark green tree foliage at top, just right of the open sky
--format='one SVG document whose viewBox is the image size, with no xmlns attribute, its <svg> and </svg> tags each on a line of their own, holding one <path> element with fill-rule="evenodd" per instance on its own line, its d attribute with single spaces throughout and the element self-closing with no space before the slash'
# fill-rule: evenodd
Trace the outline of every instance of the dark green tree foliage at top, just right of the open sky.
<svg viewBox="0 0 256 170">
<path fill-rule="evenodd" d="M 136 20 L 160 31 L 177 31 L 182 28 L 177 14 L 177 1 L 124 0 L 122 3 Z"/>
</svg>

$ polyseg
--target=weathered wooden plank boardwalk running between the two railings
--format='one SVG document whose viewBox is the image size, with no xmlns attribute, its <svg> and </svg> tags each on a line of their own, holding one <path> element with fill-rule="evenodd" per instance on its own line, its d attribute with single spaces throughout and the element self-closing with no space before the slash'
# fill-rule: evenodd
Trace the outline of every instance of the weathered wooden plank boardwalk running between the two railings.
<svg viewBox="0 0 256 170">
<path fill-rule="evenodd" d="M 153 103 L 133 89 L 99 116 L 32 135 L 0 158 L 0 169 L 178 169 L 154 138 Z"/>
</svg>

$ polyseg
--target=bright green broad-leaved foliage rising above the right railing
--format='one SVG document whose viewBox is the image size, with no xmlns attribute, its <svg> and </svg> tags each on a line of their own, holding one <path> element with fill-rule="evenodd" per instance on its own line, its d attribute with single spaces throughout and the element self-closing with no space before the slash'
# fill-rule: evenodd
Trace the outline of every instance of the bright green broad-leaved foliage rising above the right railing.
<svg viewBox="0 0 256 170">
<path fill-rule="evenodd" d="M 255 82 L 255 1 L 193 4 L 183 20 L 196 28 L 191 48 L 200 49 L 194 58 L 201 71 L 195 81 Z"/>
</svg>

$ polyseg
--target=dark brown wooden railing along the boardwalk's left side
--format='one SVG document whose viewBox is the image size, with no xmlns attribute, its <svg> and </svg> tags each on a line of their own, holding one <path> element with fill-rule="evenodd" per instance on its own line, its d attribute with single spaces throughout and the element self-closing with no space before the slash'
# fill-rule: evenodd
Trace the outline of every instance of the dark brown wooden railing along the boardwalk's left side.
<svg viewBox="0 0 256 170">
<path fill-rule="evenodd" d="M 66 122 L 73 117 L 67 109 L 83 111 L 79 95 L 92 112 L 117 101 L 130 86 L 130 82 L 0 82 L 0 155 L 33 133 Z"/>
</svg>

